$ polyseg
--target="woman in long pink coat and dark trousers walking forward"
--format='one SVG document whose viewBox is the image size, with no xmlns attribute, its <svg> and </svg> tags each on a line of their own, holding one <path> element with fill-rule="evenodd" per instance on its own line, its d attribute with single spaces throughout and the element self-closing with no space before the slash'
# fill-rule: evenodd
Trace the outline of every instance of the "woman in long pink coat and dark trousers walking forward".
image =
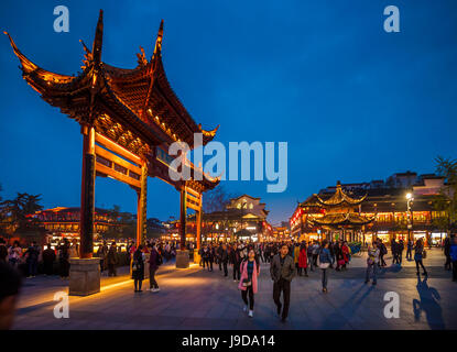
<svg viewBox="0 0 457 352">
<path fill-rule="evenodd" d="M 260 264 L 253 249 L 249 250 L 248 257 L 241 263 L 241 279 L 238 288 L 241 289 L 241 298 L 244 302 L 244 311 L 250 318 L 254 314 L 254 295 L 258 292 L 258 277 L 260 275 Z M 248 301 L 249 296 L 249 301 Z"/>
</svg>

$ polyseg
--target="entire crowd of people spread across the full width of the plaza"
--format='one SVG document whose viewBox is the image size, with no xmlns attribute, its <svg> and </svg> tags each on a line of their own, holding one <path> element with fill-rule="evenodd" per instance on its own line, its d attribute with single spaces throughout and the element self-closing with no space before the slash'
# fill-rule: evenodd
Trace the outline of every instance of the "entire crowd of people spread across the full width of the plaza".
<svg viewBox="0 0 457 352">
<path fill-rule="evenodd" d="M 406 260 L 414 260 L 417 276 L 428 276 L 423 260 L 426 257 L 423 239 L 415 242 L 396 241 L 390 243 L 392 253 L 392 265 L 402 265 L 403 252 L 406 250 Z M 134 293 L 142 292 L 142 283 L 145 278 L 145 268 L 149 268 L 150 287 L 152 293 L 160 292 L 155 274 L 164 261 L 171 261 L 176 255 L 177 243 L 156 241 L 135 245 L 130 241 L 127 246 L 127 262 L 131 263 L 131 277 L 134 284 Z M 188 250 L 193 251 L 192 244 Z M 443 244 L 446 257 L 445 270 L 453 272 L 453 280 L 457 282 L 457 238 L 451 234 L 446 238 Z M 388 249 L 380 239 L 373 240 L 367 249 L 367 268 L 364 283 L 370 280 L 377 285 L 378 272 L 387 266 L 384 255 Z M 116 241 L 108 246 L 104 242 L 97 251 L 100 258 L 100 272 L 108 270 L 108 276 L 117 275 L 119 265 L 119 248 Z M 307 277 L 309 272 L 319 271 L 323 293 L 328 292 L 329 271 L 347 271 L 351 261 L 351 246 L 346 241 L 309 241 L 309 242 L 289 242 L 289 243 L 204 243 L 198 252 L 199 265 L 203 270 L 214 272 L 215 266 L 225 277 L 229 276 L 229 267 L 233 282 L 238 283 L 241 292 L 243 310 L 249 317 L 253 317 L 254 297 L 259 287 L 259 275 L 261 264 L 270 265 L 270 276 L 273 280 L 273 301 L 278 308 L 278 315 L 282 321 L 287 319 L 291 282 L 295 276 Z M 22 265 L 28 277 L 37 274 L 39 263 L 43 263 L 44 275 L 54 273 L 54 263 L 58 263 L 58 272 L 62 278 L 68 277 L 69 258 L 78 256 L 78 243 L 70 243 L 67 239 L 53 250 L 50 244 L 41 251 L 36 242 L 32 242 L 28 248 L 21 248 L 19 242 L 8 245 L 0 238 L 0 263 L 1 271 L 13 277 L 12 272 Z M 17 278 L 11 278 L 19 283 Z M 18 284 L 19 285 L 19 284 Z M 17 287 L 15 285 L 14 287 Z M 19 287 L 19 286 L 18 286 Z M 17 289 L 13 290 L 17 293 Z M 8 293 L 7 293 L 8 294 Z M 14 294 L 15 295 L 15 294 Z M 281 300 L 282 296 L 282 300 Z"/>
</svg>

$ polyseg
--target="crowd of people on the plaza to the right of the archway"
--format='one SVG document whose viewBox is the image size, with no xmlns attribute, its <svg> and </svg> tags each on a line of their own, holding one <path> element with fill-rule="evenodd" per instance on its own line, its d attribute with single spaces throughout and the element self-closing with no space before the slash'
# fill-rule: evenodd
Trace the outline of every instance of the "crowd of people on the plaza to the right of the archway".
<svg viewBox="0 0 457 352">
<path fill-rule="evenodd" d="M 423 239 L 403 241 L 393 239 L 390 243 L 392 265 L 402 265 L 403 252 L 406 249 L 406 260 L 415 262 L 416 275 L 428 276 L 423 260 L 426 257 Z M 387 266 L 384 256 L 388 248 L 382 240 L 373 240 L 367 249 L 367 268 L 364 283 L 377 285 L 379 270 Z M 445 268 L 453 271 L 453 280 L 457 280 L 457 238 L 453 234 L 444 242 L 446 256 Z M 199 265 L 203 270 L 214 271 L 219 266 L 225 277 L 229 276 L 231 267 L 233 282 L 238 282 L 243 310 L 253 317 L 254 296 L 258 293 L 258 277 L 261 263 L 270 264 L 270 275 L 273 280 L 273 300 L 278 315 L 285 321 L 289 314 L 291 282 L 294 276 L 308 276 L 308 271 L 319 271 L 322 290 L 328 292 L 329 271 L 347 271 L 351 261 L 351 248 L 346 241 L 311 241 L 308 243 L 205 243 L 200 251 Z M 281 301 L 281 295 L 283 300 Z"/>
</svg>

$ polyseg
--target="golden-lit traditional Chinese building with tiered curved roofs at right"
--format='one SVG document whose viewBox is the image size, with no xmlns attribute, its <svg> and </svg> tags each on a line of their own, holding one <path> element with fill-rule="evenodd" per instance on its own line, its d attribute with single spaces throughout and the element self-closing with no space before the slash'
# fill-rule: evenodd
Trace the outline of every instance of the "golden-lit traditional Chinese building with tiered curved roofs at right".
<svg viewBox="0 0 457 352">
<path fill-rule="evenodd" d="M 348 241 L 379 238 L 385 243 L 410 235 L 437 244 L 446 232 L 446 213 L 435 207 L 443 186 L 444 177 L 407 172 L 394 174 L 385 183 L 327 187 L 296 207 L 290 219 L 292 235 L 319 240 L 333 233 L 333 238 L 337 234 Z M 335 204 L 346 204 L 352 211 L 334 211 Z"/>
</svg>

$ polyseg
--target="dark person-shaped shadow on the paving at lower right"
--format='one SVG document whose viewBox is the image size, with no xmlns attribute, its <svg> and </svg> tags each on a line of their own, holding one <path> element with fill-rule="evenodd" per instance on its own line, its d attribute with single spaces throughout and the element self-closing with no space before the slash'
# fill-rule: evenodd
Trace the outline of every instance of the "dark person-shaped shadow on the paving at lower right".
<svg viewBox="0 0 457 352">
<path fill-rule="evenodd" d="M 420 321 L 421 315 L 425 314 L 425 319 L 432 330 L 444 330 L 443 309 L 439 305 L 440 296 L 436 288 L 429 287 L 427 277 L 421 280 L 417 276 L 417 293 L 420 299 L 413 299 L 414 320 Z"/>
</svg>

